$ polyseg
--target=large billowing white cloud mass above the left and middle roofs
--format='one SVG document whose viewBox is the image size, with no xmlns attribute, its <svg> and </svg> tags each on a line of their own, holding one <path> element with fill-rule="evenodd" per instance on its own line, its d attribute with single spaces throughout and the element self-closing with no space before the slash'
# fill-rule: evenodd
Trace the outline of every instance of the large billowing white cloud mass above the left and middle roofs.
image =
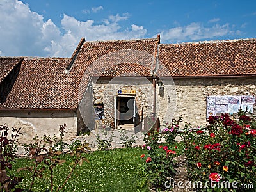
<svg viewBox="0 0 256 192">
<path fill-rule="evenodd" d="M 100 10 L 102 8 L 98 8 Z M 42 15 L 32 12 L 28 4 L 18 0 L 2 0 L 0 3 L 0 55 L 1 56 L 56 56 L 70 57 L 79 40 L 114 40 L 143 38 L 147 30 L 132 24 L 122 29 L 118 21 L 128 18 L 127 13 L 111 17 L 103 24 L 93 20 L 79 21 L 63 15 L 61 28 L 52 22 L 44 22 Z"/>
</svg>

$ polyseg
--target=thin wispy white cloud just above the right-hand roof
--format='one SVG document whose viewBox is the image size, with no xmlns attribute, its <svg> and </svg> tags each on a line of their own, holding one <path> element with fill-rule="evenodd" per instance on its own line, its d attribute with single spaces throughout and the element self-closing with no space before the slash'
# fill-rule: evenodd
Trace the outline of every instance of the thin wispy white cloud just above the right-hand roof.
<svg viewBox="0 0 256 192">
<path fill-rule="evenodd" d="M 211 27 L 205 27 L 198 22 L 193 22 L 188 26 L 179 26 L 165 31 L 161 31 L 161 40 L 163 42 L 182 42 L 188 40 L 201 40 L 207 38 L 216 38 L 224 35 L 234 34 L 229 24 L 215 24 Z"/>
</svg>

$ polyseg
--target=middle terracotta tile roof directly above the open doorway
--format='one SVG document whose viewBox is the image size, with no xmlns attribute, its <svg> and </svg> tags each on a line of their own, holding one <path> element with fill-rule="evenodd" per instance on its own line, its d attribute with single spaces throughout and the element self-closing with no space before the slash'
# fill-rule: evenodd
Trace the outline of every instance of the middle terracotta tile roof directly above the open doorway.
<svg viewBox="0 0 256 192">
<path fill-rule="evenodd" d="M 111 76 L 113 73 L 124 74 L 122 72 L 124 63 L 132 63 L 132 65 L 129 65 L 131 70 L 134 70 L 135 63 L 137 63 L 136 71 L 139 74 L 143 72 L 144 74 L 150 74 L 155 63 L 152 60 L 152 55 L 157 56 L 158 44 L 159 38 L 84 42 L 76 60 L 71 63 L 72 66 L 68 67 L 70 68 L 70 77 L 74 77 L 77 80 L 76 82 L 81 84 L 81 86 L 79 84 L 76 86 L 76 93 L 78 94 L 76 99 L 81 99 L 89 77 Z M 141 63 L 138 63 L 138 61 Z M 125 66 L 128 65 L 126 64 Z M 111 72 L 111 70 L 115 72 Z"/>
</svg>

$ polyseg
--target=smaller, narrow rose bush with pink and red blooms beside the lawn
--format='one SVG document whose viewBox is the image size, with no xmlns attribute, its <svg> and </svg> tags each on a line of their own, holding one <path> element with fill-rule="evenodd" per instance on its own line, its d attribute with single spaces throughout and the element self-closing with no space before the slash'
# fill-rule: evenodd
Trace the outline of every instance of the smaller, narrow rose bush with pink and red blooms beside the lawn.
<svg viewBox="0 0 256 192">
<path fill-rule="evenodd" d="M 177 156 L 177 153 L 170 147 L 175 143 L 175 136 L 177 136 L 180 122 L 181 118 L 178 121 L 173 120 L 170 125 L 164 123 L 163 132 L 157 129 L 149 131 L 145 136 L 144 141 L 146 144 L 143 145 L 143 148 L 147 150 L 147 155 L 141 155 L 141 158 L 145 159 L 141 172 L 144 173 L 147 179 L 143 181 L 142 186 L 149 184 L 156 190 L 162 190 L 165 189 L 164 183 L 166 180 L 175 175 L 173 158 Z M 163 138 L 166 141 L 165 144 L 161 144 Z"/>
</svg>

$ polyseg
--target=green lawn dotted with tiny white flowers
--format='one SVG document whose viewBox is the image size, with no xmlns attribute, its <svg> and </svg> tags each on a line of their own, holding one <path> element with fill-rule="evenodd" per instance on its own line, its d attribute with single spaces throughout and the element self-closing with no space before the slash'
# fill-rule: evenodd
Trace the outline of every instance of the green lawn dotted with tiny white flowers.
<svg viewBox="0 0 256 192">
<path fill-rule="evenodd" d="M 141 148 L 124 148 L 108 151 L 96 151 L 85 154 L 90 163 L 84 162 L 77 166 L 74 174 L 68 180 L 62 191 L 136 191 L 143 175 L 140 167 L 144 163 L 140 155 Z M 54 169 L 54 189 L 63 183 L 70 172 L 72 157 L 63 155 L 61 158 L 67 162 Z M 28 159 L 17 159 L 13 163 L 13 169 L 17 170 L 22 166 L 31 166 L 32 161 Z M 31 173 L 27 171 L 15 173 L 24 177 L 20 184 L 21 188 L 29 189 Z M 36 179 L 33 191 L 45 191 L 50 188 L 50 174 L 44 174 L 42 179 Z M 55 190 L 54 190 L 55 191 Z M 147 188 L 142 191 L 148 191 Z"/>
</svg>

